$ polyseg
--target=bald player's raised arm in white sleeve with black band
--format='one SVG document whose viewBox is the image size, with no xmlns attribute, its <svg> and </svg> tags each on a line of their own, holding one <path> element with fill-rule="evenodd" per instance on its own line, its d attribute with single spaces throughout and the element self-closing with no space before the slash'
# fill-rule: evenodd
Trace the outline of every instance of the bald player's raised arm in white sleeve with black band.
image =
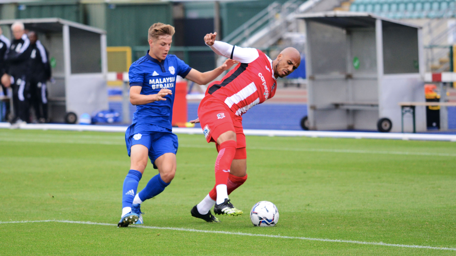
<svg viewBox="0 0 456 256">
<path fill-rule="evenodd" d="M 241 63 L 250 63 L 258 58 L 259 53 L 255 48 L 243 48 L 232 46 L 222 41 L 216 41 L 217 32 L 209 33 L 204 36 L 204 42 L 211 47 L 212 51 L 220 56 L 239 61 Z"/>
</svg>

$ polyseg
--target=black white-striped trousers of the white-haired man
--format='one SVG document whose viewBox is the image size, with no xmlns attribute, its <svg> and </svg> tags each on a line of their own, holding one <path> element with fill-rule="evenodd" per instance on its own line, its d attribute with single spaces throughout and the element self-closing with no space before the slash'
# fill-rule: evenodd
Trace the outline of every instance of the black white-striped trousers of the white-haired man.
<svg viewBox="0 0 456 256">
<path fill-rule="evenodd" d="M 13 121 L 21 118 L 22 121 L 30 123 L 29 101 L 30 101 L 30 83 L 26 80 L 26 76 L 14 76 L 13 88 Z"/>
</svg>

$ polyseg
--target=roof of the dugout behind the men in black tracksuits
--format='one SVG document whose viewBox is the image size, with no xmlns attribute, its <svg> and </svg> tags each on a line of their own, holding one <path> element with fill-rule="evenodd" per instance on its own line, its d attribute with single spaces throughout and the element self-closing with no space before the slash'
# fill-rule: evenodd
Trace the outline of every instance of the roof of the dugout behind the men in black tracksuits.
<svg viewBox="0 0 456 256">
<path fill-rule="evenodd" d="M 14 19 L 14 20 L 0 20 L 0 25 L 11 25 L 16 21 L 21 21 L 26 26 L 26 29 L 34 29 L 41 32 L 60 32 L 64 25 L 90 31 L 98 34 L 106 35 L 106 31 L 80 24 L 70 20 L 61 18 L 39 18 L 39 19 Z"/>
</svg>

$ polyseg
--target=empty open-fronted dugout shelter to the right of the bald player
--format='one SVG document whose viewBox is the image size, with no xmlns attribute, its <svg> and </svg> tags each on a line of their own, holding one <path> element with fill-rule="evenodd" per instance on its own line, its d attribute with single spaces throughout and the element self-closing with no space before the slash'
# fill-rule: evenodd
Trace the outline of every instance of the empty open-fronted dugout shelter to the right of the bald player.
<svg viewBox="0 0 456 256">
<path fill-rule="evenodd" d="M 306 28 L 309 128 L 401 132 L 398 103 L 425 102 L 421 27 L 344 11 L 296 18 Z M 416 107 L 415 123 L 426 131 L 424 106 Z"/>
</svg>

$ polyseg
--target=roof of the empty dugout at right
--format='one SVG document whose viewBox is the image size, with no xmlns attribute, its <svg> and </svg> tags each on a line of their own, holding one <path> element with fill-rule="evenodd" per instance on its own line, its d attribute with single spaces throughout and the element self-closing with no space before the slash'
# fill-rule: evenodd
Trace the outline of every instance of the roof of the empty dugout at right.
<svg viewBox="0 0 456 256">
<path fill-rule="evenodd" d="M 338 26 L 341 28 L 349 27 L 374 27 L 375 20 L 383 20 L 391 25 L 403 25 L 414 27 L 417 29 L 422 28 L 421 26 L 407 23 L 399 20 L 393 20 L 382 16 L 374 15 L 368 12 L 353 12 L 353 11 L 325 11 L 316 13 L 305 13 L 295 15 L 297 19 L 313 20 L 316 22 L 324 23 L 331 26 Z"/>
</svg>

